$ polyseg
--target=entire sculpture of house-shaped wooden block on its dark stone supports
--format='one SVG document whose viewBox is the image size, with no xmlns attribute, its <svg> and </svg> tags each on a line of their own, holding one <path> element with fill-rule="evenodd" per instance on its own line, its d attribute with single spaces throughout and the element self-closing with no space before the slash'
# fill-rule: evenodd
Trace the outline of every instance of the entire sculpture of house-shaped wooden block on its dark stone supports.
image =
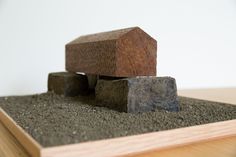
<svg viewBox="0 0 236 157">
<path fill-rule="evenodd" d="M 175 79 L 156 77 L 156 56 L 156 40 L 139 27 L 81 36 L 66 45 L 69 72 L 49 74 L 48 90 L 92 91 L 98 105 L 120 112 L 178 111 Z"/>
</svg>

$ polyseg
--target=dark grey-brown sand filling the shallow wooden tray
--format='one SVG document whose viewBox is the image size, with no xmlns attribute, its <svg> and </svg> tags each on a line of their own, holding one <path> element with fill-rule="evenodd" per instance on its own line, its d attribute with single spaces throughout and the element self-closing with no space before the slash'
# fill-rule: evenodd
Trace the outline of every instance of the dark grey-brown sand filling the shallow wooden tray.
<svg viewBox="0 0 236 157">
<path fill-rule="evenodd" d="M 97 107 L 93 95 L 2 97 L 3 108 L 42 146 L 57 146 L 236 119 L 236 106 L 180 97 L 180 112 L 124 113 Z"/>
</svg>

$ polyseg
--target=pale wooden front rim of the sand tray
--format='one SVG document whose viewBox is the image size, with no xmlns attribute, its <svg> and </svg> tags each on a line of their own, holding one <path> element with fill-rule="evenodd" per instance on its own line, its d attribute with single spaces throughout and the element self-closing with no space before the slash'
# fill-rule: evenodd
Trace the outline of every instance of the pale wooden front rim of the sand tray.
<svg viewBox="0 0 236 157">
<path fill-rule="evenodd" d="M 110 157 L 148 150 L 162 150 L 199 141 L 236 135 L 236 120 L 136 136 L 44 148 L 42 157 Z"/>
</svg>

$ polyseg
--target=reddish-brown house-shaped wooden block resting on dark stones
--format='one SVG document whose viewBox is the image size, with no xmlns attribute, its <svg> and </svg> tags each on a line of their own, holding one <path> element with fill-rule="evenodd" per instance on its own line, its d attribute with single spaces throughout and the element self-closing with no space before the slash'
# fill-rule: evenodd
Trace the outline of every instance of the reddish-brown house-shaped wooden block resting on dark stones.
<svg viewBox="0 0 236 157">
<path fill-rule="evenodd" d="M 157 42 L 139 27 L 81 36 L 66 45 L 66 70 L 132 77 L 156 75 Z"/>
</svg>

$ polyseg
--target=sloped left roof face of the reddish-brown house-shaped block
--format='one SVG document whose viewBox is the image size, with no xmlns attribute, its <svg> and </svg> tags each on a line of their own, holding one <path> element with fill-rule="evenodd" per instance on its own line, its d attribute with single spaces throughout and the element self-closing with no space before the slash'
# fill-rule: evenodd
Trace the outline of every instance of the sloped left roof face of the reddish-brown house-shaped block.
<svg viewBox="0 0 236 157">
<path fill-rule="evenodd" d="M 140 28 L 139 27 L 131 27 L 131 28 L 114 30 L 114 31 L 83 35 L 83 36 L 80 36 L 79 38 L 71 41 L 67 45 L 104 41 L 104 40 L 116 40 L 116 39 L 120 38 L 121 36 L 123 36 L 124 34 L 130 32 L 132 30 L 135 30 L 135 29 L 140 29 Z"/>
</svg>

